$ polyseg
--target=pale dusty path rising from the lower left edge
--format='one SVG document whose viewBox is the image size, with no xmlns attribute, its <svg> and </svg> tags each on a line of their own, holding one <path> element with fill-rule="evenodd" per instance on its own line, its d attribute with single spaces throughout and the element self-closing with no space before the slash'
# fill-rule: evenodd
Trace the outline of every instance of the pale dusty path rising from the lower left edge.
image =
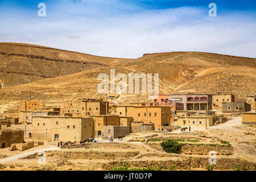
<svg viewBox="0 0 256 182">
<path fill-rule="evenodd" d="M 59 150 L 59 149 L 60 149 L 59 147 L 49 147 L 49 148 L 44 148 L 44 149 L 40 149 L 40 150 L 24 152 L 23 154 L 14 155 L 9 158 L 2 159 L 2 160 L 0 160 L 0 164 L 14 163 L 15 161 L 18 161 L 19 158 L 24 158 L 28 155 L 36 154 L 38 152 L 45 152 L 45 151 Z"/>
</svg>

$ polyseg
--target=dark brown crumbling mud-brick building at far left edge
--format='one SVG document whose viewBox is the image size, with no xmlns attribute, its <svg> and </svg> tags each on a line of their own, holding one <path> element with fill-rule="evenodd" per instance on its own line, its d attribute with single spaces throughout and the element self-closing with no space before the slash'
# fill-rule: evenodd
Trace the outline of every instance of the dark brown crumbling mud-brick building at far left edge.
<svg viewBox="0 0 256 182">
<path fill-rule="evenodd" d="M 24 131 L 23 130 L 11 130 L 1 129 L 0 130 L 0 148 L 10 147 L 13 143 L 24 142 Z"/>
</svg>

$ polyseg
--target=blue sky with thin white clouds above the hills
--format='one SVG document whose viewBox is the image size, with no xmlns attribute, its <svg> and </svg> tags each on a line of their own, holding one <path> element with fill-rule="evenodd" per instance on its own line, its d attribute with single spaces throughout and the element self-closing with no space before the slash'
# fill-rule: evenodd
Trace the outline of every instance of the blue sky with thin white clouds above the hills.
<svg viewBox="0 0 256 182">
<path fill-rule="evenodd" d="M 46 4 L 46 17 L 38 4 Z M 210 17 L 209 3 L 217 16 Z M 256 1 L 0 1 L 0 42 L 111 57 L 201 51 L 256 57 Z"/>
</svg>

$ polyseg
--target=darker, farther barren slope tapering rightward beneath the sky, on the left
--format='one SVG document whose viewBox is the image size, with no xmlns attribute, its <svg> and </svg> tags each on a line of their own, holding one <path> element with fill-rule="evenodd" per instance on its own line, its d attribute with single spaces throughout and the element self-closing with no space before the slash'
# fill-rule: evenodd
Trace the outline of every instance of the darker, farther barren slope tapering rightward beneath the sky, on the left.
<svg viewBox="0 0 256 182">
<path fill-rule="evenodd" d="M 5 86 L 26 84 L 44 78 L 121 64 L 123 61 L 129 60 L 30 44 L 0 43 L 0 82 L 4 82 Z"/>
</svg>

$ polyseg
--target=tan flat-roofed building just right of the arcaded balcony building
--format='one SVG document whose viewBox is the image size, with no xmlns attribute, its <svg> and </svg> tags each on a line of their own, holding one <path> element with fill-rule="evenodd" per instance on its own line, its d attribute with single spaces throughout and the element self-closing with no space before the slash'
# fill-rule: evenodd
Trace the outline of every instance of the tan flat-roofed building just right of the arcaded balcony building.
<svg viewBox="0 0 256 182">
<path fill-rule="evenodd" d="M 217 94 L 212 95 L 212 109 L 220 109 L 222 110 L 222 103 L 223 102 L 234 102 L 235 96 L 233 94 Z"/>
</svg>

